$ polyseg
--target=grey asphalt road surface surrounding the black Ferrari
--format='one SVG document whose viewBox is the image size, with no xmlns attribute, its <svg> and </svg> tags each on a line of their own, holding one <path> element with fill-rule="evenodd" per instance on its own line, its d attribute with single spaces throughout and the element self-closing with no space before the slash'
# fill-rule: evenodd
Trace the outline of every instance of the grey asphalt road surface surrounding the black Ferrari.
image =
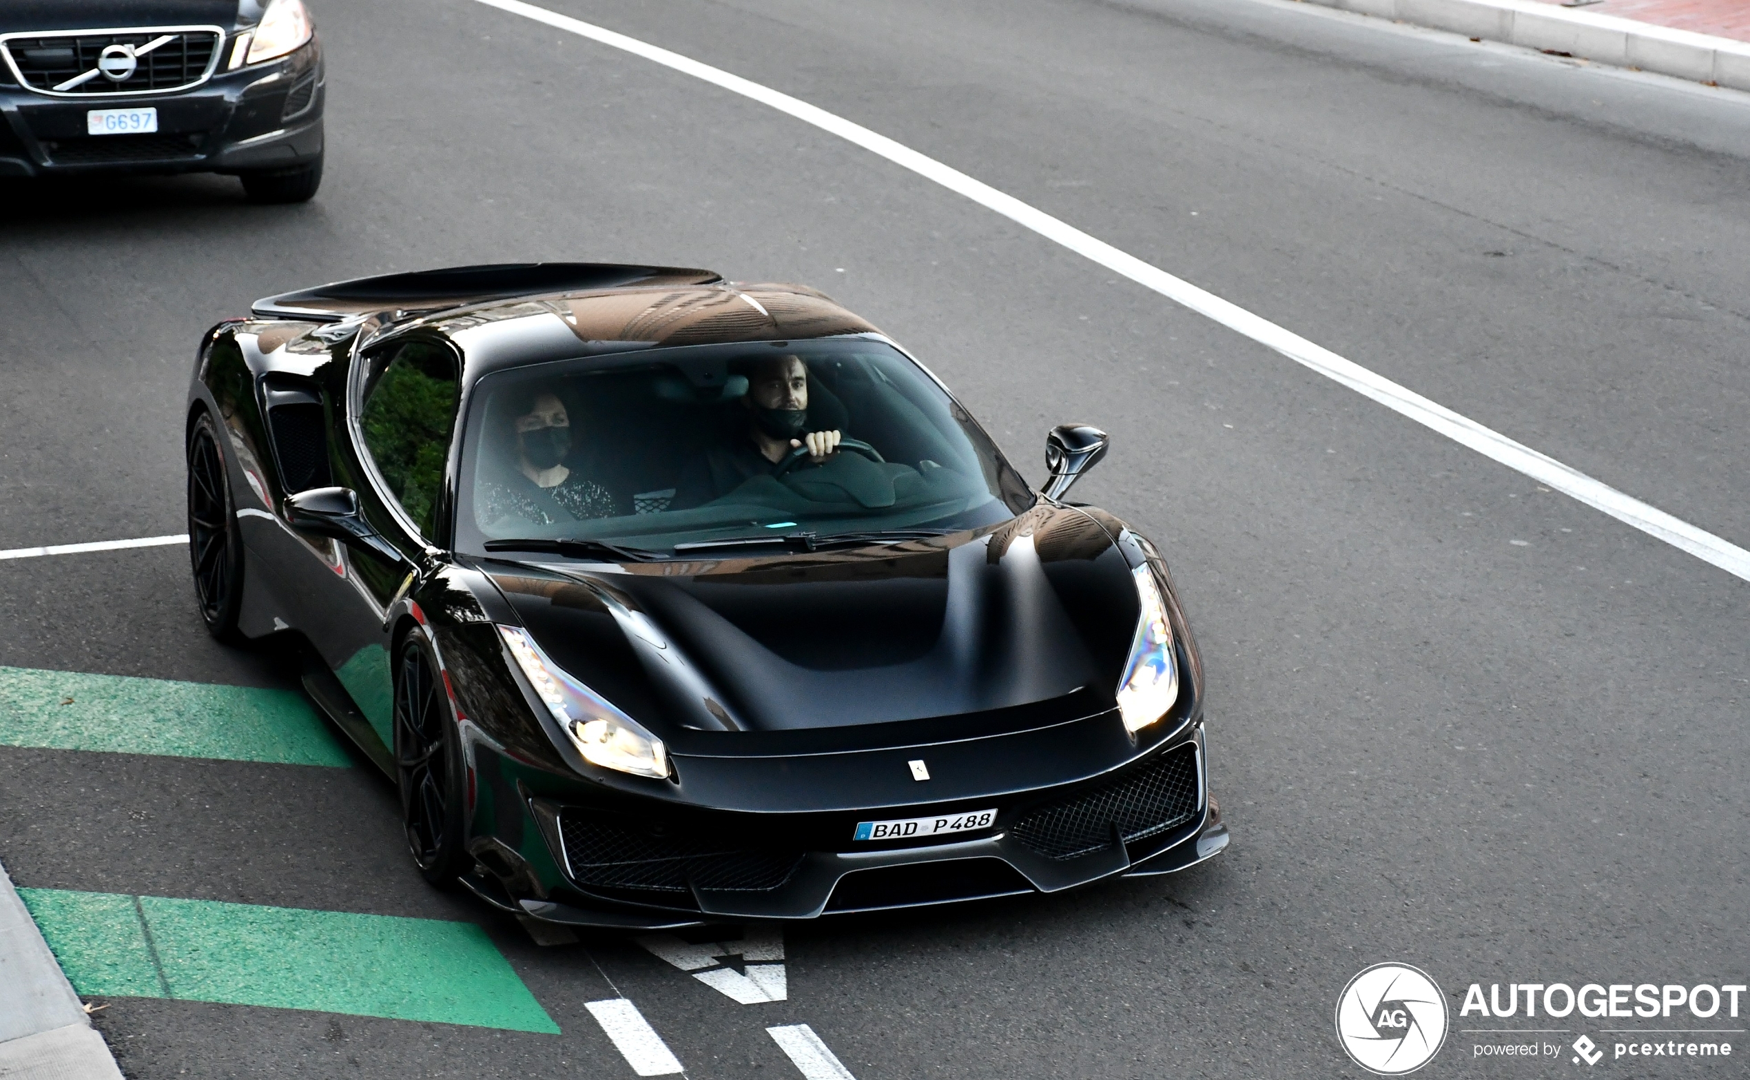
<svg viewBox="0 0 1750 1080">
<path fill-rule="evenodd" d="M 1750 98 L 1260 0 L 550 5 L 1750 543 Z M 256 296 L 528 259 L 807 282 L 1034 480 L 1052 424 L 1111 431 L 1076 494 L 1172 564 L 1236 840 L 1166 879 L 793 926 L 788 999 L 735 1005 L 434 893 L 366 768 L 0 747 L 18 884 L 478 921 L 564 1031 L 117 998 L 130 1076 L 630 1076 L 583 1008 L 620 994 L 691 1076 L 794 1076 L 765 1027 L 796 1022 L 858 1080 L 1334 1076 L 1360 1075 L 1337 994 L 1376 961 L 1428 970 L 1454 1029 L 1489 1026 L 1458 1017 L 1472 982 L 1746 982 L 1750 585 L 749 100 L 471 0 L 315 11 L 312 205 L 0 189 L 0 548 L 180 532 L 192 347 Z M 0 562 L 0 663 L 292 684 L 189 593 L 180 548 Z M 1426 1075 L 1552 1075 L 1472 1041 Z"/>
</svg>

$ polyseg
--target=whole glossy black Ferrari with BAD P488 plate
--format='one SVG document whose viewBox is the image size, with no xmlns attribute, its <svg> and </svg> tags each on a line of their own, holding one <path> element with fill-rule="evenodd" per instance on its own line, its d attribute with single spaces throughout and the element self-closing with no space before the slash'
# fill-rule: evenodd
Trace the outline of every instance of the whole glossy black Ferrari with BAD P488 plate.
<svg viewBox="0 0 1750 1080">
<path fill-rule="evenodd" d="M 257 301 L 200 345 L 196 593 L 308 641 L 432 882 L 581 926 L 807 919 L 1227 845 L 1155 548 L 1031 490 L 826 296 L 471 266 Z"/>
</svg>

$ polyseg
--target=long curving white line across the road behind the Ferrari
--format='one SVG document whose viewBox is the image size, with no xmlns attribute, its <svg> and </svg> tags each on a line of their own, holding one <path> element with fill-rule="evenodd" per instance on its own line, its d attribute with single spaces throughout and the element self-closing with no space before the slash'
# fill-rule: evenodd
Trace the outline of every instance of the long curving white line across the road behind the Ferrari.
<svg viewBox="0 0 1750 1080">
<path fill-rule="evenodd" d="M 1409 417 L 1423 427 L 1470 446 L 1477 453 L 1510 469 L 1517 469 L 1526 476 L 1531 476 L 1558 492 L 1564 492 L 1594 509 L 1601 509 L 1619 522 L 1640 529 L 1647 536 L 1661 539 L 1682 551 L 1689 551 L 1696 558 L 1710 562 L 1729 574 L 1736 574 L 1738 578 L 1750 581 L 1750 551 L 1740 548 L 1738 544 L 1713 536 L 1712 532 L 1696 529 L 1689 522 L 1633 499 L 1606 483 L 1592 480 L 1586 473 L 1572 469 L 1552 457 L 1524 446 L 1522 443 L 1516 443 L 1498 431 L 1484 427 L 1482 424 L 1454 413 L 1437 401 L 1423 397 L 1409 387 L 1402 387 L 1321 345 L 1307 341 L 1300 334 L 1286 331 L 1260 315 L 1253 315 L 1239 305 L 1228 303 L 1213 292 L 1199 289 L 1197 285 L 1176 278 L 1157 266 L 1143 263 L 1136 256 L 1125 254 L 1104 240 L 1096 240 L 1082 229 L 1069 226 L 1043 210 L 1036 210 L 1027 203 L 990 187 L 989 184 L 975 180 L 966 173 L 936 161 L 934 158 L 926 158 L 924 154 L 919 154 L 917 151 L 905 147 L 886 135 L 877 135 L 861 124 L 854 124 L 840 116 L 826 112 L 816 105 L 808 105 L 807 102 L 793 98 L 786 93 L 779 93 L 768 86 L 751 82 L 740 75 L 732 75 L 721 68 L 714 68 L 707 63 L 640 42 L 639 39 L 616 33 L 593 23 L 584 23 L 583 19 L 562 16 L 544 7 L 525 4 L 523 0 L 478 2 L 544 23 L 555 30 L 565 30 L 569 33 L 576 33 L 578 37 L 586 37 L 593 42 L 632 53 L 634 56 L 642 56 L 644 60 L 674 68 L 684 75 L 704 79 L 705 82 L 721 86 L 730 93 L 752 98 L 761 105 L 770 105 L 772 109 L 786 112 L 807 124 L 814 124 L 822 131 L 836 135 L 847 142 L 854 142 L 873 154 L 880 154 L 894 165 L 905 166 L 920 177 L 942 184 L 948 191 L 996 210 L 1003 217 L 1008 217 L 1046 240 L 1054 240 L 1069 250 L 1099 263 L 1113 273 L 1120 273 L 1139 285 L 1153 289 L 1174 303 L 1185 305 L 1199 315 L 1206 315 L 1214 322 L 1258 341 L 1260 345 L 1274 348 L 1290 361 L 1304 364 L 1312 371 L 1349 387 L 1356 394 L 1372 397 L 1379 404 Z"/>
</svg>

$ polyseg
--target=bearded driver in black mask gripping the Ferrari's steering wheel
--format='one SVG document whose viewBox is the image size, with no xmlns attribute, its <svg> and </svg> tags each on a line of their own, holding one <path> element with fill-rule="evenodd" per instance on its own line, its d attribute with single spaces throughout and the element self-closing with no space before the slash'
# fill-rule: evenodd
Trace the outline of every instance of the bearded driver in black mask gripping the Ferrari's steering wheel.
<svg viewBox="0 0 1750 1080">
<path fill-rule="evenodd" d="M 754 476 L 770 476 L 793 450 L 807 446 L 816 464 L 838 450 L 838 431 L 808 431 L 808 368 L 798 355 L 765 357 L 747 371 L 742 394 L 747 425 L 726 446 L 712 446 L 681 474 L 681 504 L 719 499 Z"/>
</svg>

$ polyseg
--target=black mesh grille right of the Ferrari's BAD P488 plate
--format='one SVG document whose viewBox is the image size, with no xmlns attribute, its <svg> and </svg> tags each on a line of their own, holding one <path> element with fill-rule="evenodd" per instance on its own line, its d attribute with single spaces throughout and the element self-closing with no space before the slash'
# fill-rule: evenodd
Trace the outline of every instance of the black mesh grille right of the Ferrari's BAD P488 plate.
<svg viewBox="0 0 1750 1080">
<path fill-rule="evenodd" d="M 1186 742 L 1092 791 L 1024 814 L 1010 831 L 1052 859 L 1110 847 L 1113 826 L 1125 844 L 1144 840 L 1197 812 L 1197 747 Z"/>
</svg>

